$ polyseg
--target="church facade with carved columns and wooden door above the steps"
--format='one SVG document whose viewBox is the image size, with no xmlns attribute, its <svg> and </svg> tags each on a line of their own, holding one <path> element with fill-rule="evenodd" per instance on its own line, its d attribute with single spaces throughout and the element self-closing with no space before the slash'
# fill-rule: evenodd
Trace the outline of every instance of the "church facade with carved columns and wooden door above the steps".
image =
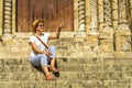
<svg viewBox="0 0 132 88">
<path fill-rule="evenodd" d="M 34 19 L 46 18 L 47 29 L 50 29 L 50 24 L 56 28 L 56 23 L 61 23 L 63 20 L 66 22 L 67 26 L 62 37 L 67 37 L 67 35 L 84 37 L 87 42 L 92 42 L 92 46 L 99 46 L 99 51 L 132 51 L 132 0 L 70 0 L 69 3 L 67 0 L 58 0 L 57 3 L 52 0 L 55 4 L 43 9 L 43 15 L 33 13 L 33 11 L 37 12 L 37 9 L 32 9 L 37 1 L 33 0 L 35 3 L 32 1 L 31 8 L 24 1 L 30 2 L 30 0 L 0 1 L 0 36 L 2 40 L 21 35 L 23 38 L 28 37 L 32 30 L 24 29 L 32 29 Z M 46 0 L 40 1 L 46 2 Z M 59 7 L 63 3 L 65 6 Z M 21 8 L 23 6 L 24 9 Z M 43 4 L 41 8 L 44 8 Z M 51 13 L 43 13 L 44 10 L 47 10 L 47 13 L 50 10 Z M 54 12 L 54 10 L 56 11 Z M 52 14 L 53 12 L 54 14 Z M 62 15 L 57 16 L 56 12 Z"/>
</svg>

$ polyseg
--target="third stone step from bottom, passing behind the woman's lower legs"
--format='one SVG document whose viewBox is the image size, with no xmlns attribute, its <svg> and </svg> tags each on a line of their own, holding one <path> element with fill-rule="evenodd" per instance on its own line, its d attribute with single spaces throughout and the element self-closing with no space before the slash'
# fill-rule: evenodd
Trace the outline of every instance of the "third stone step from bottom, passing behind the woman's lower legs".
<svg viewBox="0 0 132 88">
<path fill-rule="evenodd" d="M 116 73 L 128 73 L 132 72 L 132 65 L 129 64 L 111 64 L 111 65 L 96 65 L 96 64 L 58 64 L 58 69 L 61 72 L 116 72 Z M 0 73 L 37 73 L 42 70 L 41 67 L 33 67 L 29 65 L 0 65 Z"/>
</svg>

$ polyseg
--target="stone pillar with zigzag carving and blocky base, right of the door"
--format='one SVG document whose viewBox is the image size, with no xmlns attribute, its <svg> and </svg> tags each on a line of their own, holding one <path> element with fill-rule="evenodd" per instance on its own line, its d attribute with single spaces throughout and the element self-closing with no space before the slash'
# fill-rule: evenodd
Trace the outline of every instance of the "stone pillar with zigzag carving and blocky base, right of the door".
<svg viewBox="0 0 132 88">
<path fill-rule="evenodd" d="M 113 51 L 112 0 L 103 0 L 103 29 L 100 31 L 100 50 Z"/>
</svg>

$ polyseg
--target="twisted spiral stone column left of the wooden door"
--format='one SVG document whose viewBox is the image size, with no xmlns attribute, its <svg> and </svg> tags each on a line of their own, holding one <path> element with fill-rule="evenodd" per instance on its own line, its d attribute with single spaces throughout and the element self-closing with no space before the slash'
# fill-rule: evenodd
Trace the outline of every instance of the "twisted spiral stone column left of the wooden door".
<svg viewBox="0 0 132 88">
<path fill-rule="evenodd" d="M 3 36 L 11 36 L 12 0 L 3 0 Z"/>
</svg>

